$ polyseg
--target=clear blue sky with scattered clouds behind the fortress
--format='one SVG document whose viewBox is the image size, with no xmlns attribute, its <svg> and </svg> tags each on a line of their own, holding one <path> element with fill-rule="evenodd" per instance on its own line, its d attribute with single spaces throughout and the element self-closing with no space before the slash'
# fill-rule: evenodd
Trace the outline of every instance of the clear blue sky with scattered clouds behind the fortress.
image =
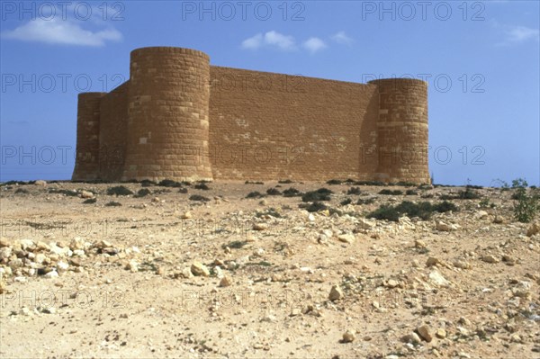
<svg viewBox="0 0 540 359">
<path fill-rule="evenodd" d="M 2 1 L 0 181 L 68 179 L 76 95 L 129 78 L 130 51 L 201 49 L 212 65 L 429 85 L 439 184 L 540 184 L 537 1 Z"/>
</svg>

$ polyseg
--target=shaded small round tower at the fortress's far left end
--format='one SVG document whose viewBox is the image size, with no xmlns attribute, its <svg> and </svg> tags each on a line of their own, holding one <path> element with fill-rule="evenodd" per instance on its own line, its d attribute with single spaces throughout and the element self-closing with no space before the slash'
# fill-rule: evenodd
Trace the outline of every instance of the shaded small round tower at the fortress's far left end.
<svg viewBox="0 0 540 359">
<path fill-rule="evenodd" d="M 76 161 L 72 181 L 97 178 L 99 170 L 100 100 L 106 93 L 78 94 L 76 112 Z"/>
</svg>

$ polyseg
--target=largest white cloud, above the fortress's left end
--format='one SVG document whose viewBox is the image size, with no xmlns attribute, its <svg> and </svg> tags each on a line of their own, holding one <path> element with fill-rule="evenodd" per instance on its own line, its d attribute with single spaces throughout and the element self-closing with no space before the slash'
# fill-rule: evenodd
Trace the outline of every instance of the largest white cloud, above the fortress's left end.
<svg viewBox="0 0 540 359">
<path fill-rule="evenodd" d="M 12 31 L 2 32 L 2 37 L 4 39 L 77 46 L 103 46 L 105 41 L 122 39 L 121 32 L 113 28 L 90 31 L 83 29 L 78 22 L 62 20 L 61 18 L 53 18 L 49 21 L 37 18 Z"/>
</svg>

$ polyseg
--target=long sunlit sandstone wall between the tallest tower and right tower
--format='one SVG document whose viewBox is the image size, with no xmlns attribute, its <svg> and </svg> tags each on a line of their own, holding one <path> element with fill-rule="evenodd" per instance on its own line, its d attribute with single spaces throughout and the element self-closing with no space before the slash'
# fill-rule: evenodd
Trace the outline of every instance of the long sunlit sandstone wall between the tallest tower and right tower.
<svg viewBox="0 0 540 359">
<path fill-rule="evenodd" d="M 372 179 L 375 85 L 211 67 L 215 179 Z"/>
</svg>

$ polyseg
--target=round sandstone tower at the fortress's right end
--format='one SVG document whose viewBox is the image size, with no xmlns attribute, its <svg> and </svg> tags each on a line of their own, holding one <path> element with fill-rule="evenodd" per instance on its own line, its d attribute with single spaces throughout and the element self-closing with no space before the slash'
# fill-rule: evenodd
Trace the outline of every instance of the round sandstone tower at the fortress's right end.
<svg viewBox="0 0 540 359">
<path fill-rule="evenodd" d="M 428 83 L 388 78 L 369 84 L 379 88 L 377 179 L 429 184 Z"/>
</svg>

